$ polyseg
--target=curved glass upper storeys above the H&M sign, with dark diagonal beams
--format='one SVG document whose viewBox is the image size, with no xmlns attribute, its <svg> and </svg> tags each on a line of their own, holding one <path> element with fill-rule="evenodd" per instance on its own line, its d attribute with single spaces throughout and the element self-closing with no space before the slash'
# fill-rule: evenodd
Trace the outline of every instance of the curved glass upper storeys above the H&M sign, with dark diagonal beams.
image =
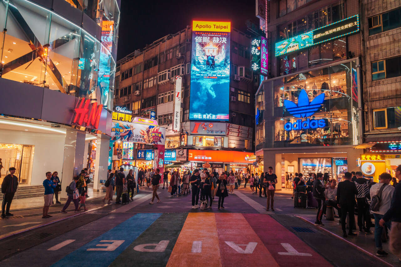
<svg viewBox="0 0 401 267">
<path fill-rule="evenodd" d="M 119 23 L 117 3 L 115 0 L 67 2 L 81 10 L 83 16 L 93 19 L 95 28 L 101 27 L 101 36 L 95 37 L 85 30 L 84 20 L 78 25 L 33 2 L 0 2 L 0 26 L 4 28 L 0 40 L 0 75 L 76 97 L 97 99 L 111 110 L 113 49 L 117 47 Z"/>
</svg>

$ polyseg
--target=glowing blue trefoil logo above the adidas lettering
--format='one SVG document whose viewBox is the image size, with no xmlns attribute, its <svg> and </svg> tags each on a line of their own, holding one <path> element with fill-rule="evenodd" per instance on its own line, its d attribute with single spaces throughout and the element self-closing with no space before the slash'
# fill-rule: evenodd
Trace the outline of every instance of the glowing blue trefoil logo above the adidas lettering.
<svg viewBox="0 0 401 267">
<path fill-rule="evenodd" d="M 294 117 L 304 118 L 309 117 L 318 111 L 322 106 L 323 101 L 324 93 L 321 93 L 309 103 L 308 93 L 302 89 L 298 97 L 298 105 L 290 100 L 284 100 L 284 106 L 291 115 L 294 115 Z"/>
</svg>

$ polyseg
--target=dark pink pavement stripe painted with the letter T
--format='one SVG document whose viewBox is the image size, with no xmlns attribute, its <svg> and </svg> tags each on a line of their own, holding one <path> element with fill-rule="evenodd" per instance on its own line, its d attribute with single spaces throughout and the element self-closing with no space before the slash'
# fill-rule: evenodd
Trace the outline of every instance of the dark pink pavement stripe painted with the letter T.
<svg viewBox="0 0 401 267">
<path fill-rule="evenodd" d="M 332 266 L 271 216 L 265 214 L 243 214 L 243 216 L 280 266 L 304 267 L 311 264 L 319 267 Z"/>
</svg>

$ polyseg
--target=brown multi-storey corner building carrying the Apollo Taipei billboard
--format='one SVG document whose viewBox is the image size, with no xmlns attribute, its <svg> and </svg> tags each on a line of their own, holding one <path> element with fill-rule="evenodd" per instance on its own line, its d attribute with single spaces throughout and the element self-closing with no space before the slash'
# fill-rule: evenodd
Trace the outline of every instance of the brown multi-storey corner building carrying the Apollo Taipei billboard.
<svg viewBox="0 0 401 267">
<path fill-rule="evenodd" d="M 228 171 L 245 170 L 254 161 L 253 95 L 259 78 L 250 71 L 251 40 L 224 27 L 207 34 L 187 26 L 117 61 L 114 106 L 166 128 L 164 166 L 209 162 Z M 188 161 L 192 165 L 184 164 Z M 153 166 L 138 155 L 115 166 L 124 163 Z"/>
</svg>

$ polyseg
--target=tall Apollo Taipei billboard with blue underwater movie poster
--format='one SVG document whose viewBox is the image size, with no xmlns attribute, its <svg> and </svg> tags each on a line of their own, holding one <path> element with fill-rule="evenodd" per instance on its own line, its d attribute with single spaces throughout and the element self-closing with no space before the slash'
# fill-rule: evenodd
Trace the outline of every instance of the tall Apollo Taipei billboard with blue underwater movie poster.
<svg viewBox="0 0 401 267">
<path fill-rule="evenodd" d="M 231 22 L 192 22 L 189 119 L 229 119 L 230 31 Z"/>
</svg>

